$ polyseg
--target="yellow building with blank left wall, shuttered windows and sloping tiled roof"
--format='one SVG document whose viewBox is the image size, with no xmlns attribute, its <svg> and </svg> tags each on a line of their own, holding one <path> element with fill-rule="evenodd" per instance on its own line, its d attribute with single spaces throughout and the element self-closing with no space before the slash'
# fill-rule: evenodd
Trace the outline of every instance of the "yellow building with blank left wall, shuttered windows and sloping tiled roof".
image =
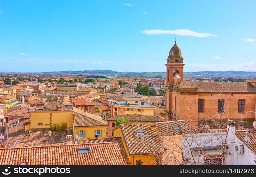
<svg viewBox="0 0 256 177">
<path fill-rule="evenodd" d="M 30 112 L 30 124 L 25 127 L 29 129 L 51 128 L 51 131 L 73 131 L 80 140 L 107 137 L 107 124 L 102 120 L 89 118 L 88 115 L 69 111 L 45 111 Z"/>
</svg>

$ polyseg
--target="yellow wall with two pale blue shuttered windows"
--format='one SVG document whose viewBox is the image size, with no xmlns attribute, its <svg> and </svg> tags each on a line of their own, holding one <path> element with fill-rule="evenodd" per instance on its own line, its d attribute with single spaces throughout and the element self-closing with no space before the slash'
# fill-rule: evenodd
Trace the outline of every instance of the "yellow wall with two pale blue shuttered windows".
<svg viewBox="0 0 256 177">
<path fill-rule="evenodd" d="M 78 130 L 86 130 L 86 137 L 79 139 L 87 139 L 88 137 L 95 139 L 94 130 L 102 130 L 102 137 L 98 137 L 99 139 L 107 137 L 107 126 L 74 127 L 74 137 L 76 137 Z"/>
</svg>

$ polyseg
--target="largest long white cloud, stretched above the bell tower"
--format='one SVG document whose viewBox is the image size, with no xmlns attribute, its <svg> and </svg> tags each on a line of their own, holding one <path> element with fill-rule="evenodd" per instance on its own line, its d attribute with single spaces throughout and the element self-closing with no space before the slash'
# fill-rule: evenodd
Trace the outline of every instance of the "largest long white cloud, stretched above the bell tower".
<svg viewBox="0 0 256 177">
<path fill-rule="evenodd" d="M 210 37 L 210 36 L 216 36 L 214 34 L 209 34 L 209 33 L 197 33 L 193 32 L 189 29 L 175 29 L 175 30 L 162 30 L 162 29 L 145 29 L 141 31 L 141 33 L 145 33 L 148 35 L 156 35 L 156 34 L 176 34 L 178 36 L 195 36 L 198 38 L 203 38 L 203 37 Z"/>
</svg>

